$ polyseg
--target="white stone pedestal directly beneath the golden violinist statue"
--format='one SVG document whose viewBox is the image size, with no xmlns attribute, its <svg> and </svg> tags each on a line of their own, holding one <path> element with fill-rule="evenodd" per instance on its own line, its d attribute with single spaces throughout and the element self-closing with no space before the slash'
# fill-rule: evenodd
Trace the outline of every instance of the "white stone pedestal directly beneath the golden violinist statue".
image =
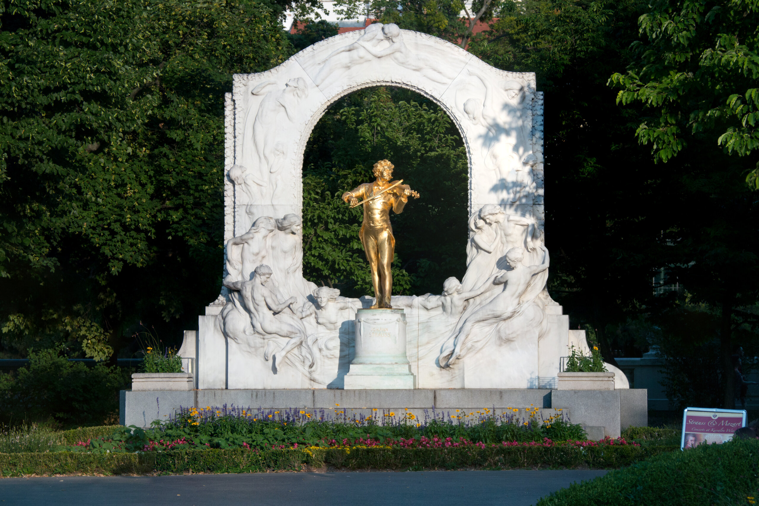
<svg viewBox="0 0 759 506">
<path fill-rule="evenodd" d="M 357 310 L 355 358 L 345 375 L 345 389 L 416 388 L 406 357 L 403 310 Z"/>
</svg>

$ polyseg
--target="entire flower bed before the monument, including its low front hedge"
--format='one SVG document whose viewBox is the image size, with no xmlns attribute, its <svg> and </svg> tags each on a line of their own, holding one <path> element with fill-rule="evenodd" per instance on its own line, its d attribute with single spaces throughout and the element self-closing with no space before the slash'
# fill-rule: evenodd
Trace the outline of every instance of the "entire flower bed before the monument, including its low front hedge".
<svg viewBox="0 0 759 506">
<path fill-rule="evenodd" d="M 559 410 L 545 420 L 534 408 L 433 412 L 422 420 L 411 413 L 370 413 L 351 418 L 344 411 L 191 408 L 152 429 L 60 433 L 65 446 L 57 451 L 0 454 L 0 474 L 613 468 L 678 448 L 625 438 L 588 441 Z"/>
</svg>

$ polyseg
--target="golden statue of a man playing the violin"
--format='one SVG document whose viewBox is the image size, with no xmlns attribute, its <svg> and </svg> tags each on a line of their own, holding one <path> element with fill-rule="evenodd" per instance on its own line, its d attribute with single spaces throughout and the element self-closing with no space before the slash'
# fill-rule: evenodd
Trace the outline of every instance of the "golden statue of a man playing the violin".
<svg viewBox="0 0 759 506">
<path fill-rule="evenodd" d="M 374 164 L 376 181 L 364 183 L 355 190 L 342 194 L 342 200 L 351 207 L 364 204 L 364 222 L 361 223 L 361 244 L 367 254 L 372 269 L 372 284 L 376 301 L 371 309 L 392 308 L 392 272 L 390 267 L 395 254 L 395 237 L 390 225 L 390 209 L 403 212 L 408 196 L 419 198 L 419 193 L 411 190 L 403 180 L 390 181 L 395 166 L 389 160 L 379 160 Z M 359 199 L 361 202 L 359 202 Z"/>
</svg>

